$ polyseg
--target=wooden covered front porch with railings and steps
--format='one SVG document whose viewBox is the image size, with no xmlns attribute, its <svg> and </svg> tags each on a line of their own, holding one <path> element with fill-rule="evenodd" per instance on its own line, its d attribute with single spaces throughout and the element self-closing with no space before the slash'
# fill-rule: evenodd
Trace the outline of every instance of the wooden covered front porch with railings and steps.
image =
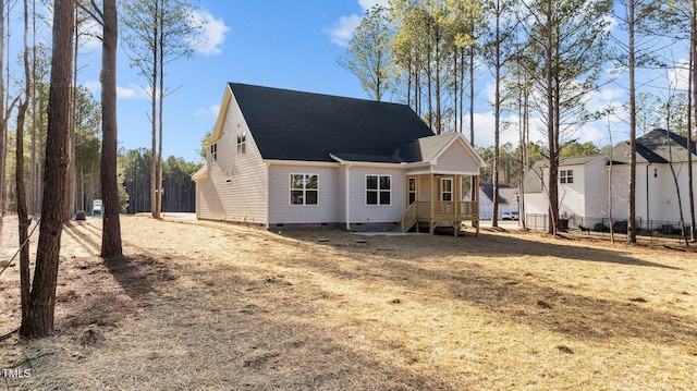
<svg viewBox="0 0 697 391">
<path fill-rule="evenodd" d="M 407 175 L 408 206 L 402 213 L 402 232 L 449 224 L 455 236 L 470 221 L 479 235 L 479 175 L 427 173 Z"/>
</svg>

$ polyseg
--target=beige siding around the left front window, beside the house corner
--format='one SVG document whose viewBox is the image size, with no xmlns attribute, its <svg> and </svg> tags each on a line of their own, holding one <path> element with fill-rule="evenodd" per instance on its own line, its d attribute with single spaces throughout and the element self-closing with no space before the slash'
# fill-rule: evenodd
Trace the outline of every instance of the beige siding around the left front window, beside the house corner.
<svg viewBox="0 0 697 391">
<path fill-rule="evenodd" d="M 342 221 L 339 164 L 328 166 L 289 166 L 271 164 L 269 167 L 269 223 L 337 223 Z M 317 205 L 291 205 L 291 174 L 318 175 Z"/>
</svg>

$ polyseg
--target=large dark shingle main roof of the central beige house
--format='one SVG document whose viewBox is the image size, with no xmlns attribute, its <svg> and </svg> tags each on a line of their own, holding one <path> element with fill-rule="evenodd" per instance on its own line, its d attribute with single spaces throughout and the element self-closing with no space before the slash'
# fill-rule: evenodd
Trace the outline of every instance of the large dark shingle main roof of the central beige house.
<svg viewBox="0 0 697 391">
<path fill-rule="evenodd" d="M 420 149 L 406 146 L 433 135 L 405 105 L 229 85 L 264 159 L 413 162 Z"/>
</svg>

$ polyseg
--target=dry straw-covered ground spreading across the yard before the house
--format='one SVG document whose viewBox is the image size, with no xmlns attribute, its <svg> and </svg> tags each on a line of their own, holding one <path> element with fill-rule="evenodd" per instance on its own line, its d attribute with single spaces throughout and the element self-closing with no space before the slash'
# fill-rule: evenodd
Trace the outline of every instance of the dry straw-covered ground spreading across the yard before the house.
<svg viewBox="0 0 697 391">
<path fill-rule="evenodd" d="M 674 241 L 122 230 L 105 262 L 99 220 L 66 227 L 57 334 L 1 341 L 0 368 L 30 376 L 0 389 L 697 390 L 697 254 Z"/>
</svg>

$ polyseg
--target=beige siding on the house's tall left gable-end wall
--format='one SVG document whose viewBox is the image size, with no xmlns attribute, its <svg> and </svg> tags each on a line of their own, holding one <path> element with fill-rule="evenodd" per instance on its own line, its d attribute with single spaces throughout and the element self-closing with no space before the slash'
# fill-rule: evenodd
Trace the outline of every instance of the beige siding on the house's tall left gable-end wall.
<svg viewBox="0 0 697 391">
<path fill-rule="evenodd" d="M 218 159 L 208 159 L 208 180 L 199 181 L 201 219 L 266 223 L 266 166 L 233 99 L 217 140 Z M 237 152 L 237 133 L 246 131 L 246 151 Z M 209 151 L 210 152 L 210 151 Z"/>
</svg>

